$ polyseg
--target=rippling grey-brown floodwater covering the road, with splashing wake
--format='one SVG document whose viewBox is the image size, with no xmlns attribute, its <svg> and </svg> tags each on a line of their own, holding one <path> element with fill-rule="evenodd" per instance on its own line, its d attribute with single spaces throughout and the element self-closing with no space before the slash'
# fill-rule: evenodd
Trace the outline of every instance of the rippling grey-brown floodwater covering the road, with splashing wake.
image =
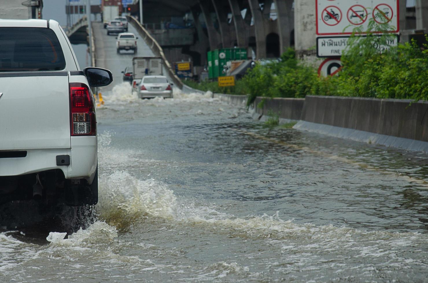
<svg viewBox="0 0 428 283">
<path fill-rule="evenodd" d="M 1 282 L 427 282 L 426 154 L 129 92 L 97 109 L 95 223 L 3 227 Z"/>
</svg>

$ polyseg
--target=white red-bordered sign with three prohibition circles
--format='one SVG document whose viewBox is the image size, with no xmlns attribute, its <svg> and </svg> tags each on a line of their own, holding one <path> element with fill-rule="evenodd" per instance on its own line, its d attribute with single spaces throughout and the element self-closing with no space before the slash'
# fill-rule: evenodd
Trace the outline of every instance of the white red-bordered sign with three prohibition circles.
<svg viewBox="0 0 428 283">
<path fill-rule="evenodd" d="M 393 32 L 398 32 L 398 1 L 316 0 L 317 35 L 349 35 L 355 27 L 366 31 L 370 19 L 388 23 L 394 27 Z"/>
</svg>

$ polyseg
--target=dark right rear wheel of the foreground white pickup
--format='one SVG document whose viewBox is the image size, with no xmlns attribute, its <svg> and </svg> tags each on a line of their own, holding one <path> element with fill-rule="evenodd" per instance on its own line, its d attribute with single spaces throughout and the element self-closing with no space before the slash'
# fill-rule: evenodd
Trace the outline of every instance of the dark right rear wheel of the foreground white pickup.
<svg viewBox="0 0 428 283">
<path fill-rule="evenodd" d="M 98 166 L 92 184 L 84 179 L 80 184 L 68 183 L 64 186 L 64 200 L 68 206 L 95 205 L 98 203 Z"/>
</svg>

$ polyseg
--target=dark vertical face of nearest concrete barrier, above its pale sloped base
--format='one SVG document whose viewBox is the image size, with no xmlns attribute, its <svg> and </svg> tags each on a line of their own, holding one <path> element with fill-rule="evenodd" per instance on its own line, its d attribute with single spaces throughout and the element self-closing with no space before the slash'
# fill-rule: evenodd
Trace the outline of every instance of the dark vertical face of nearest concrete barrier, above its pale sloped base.
<svg viewBox="0 0 428 283">
<path fill-rule="evenodd" d="M 428 141 L 427 102 L 306 96 L 301 120 L 404 139 Z"/>
</svg>

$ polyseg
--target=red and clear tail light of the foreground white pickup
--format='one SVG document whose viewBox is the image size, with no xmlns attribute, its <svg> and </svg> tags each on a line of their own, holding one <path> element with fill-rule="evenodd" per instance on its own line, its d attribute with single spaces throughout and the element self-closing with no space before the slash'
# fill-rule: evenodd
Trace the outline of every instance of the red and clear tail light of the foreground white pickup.
<svg viewBox="0 0 428 283">
<path fill-rule="evenodd" d="M 95 107 L 89 87 L 83 83 L 70 83 L 71 136 L 96 136 Z"/>
</svg>

